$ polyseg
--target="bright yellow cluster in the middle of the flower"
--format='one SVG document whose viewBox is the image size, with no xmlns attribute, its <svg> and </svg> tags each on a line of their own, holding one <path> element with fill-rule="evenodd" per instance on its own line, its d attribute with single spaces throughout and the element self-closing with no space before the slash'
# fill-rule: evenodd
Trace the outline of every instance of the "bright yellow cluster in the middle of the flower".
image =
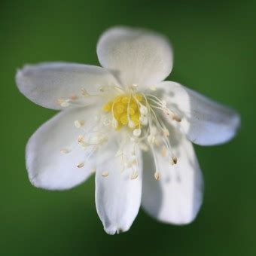
<svg viewBox="0 0 256 256">
<path fill-rule="evenodd" d="M 105 103 L 102 106 L 102 110 L 105 112 L 111 112 L 112 117 L 116 120 L 116 130 L 119 130 L 122 126 L 133 126 L 130 128 L 138 128 L 140 126 L 140 105 L 143 105 L 143 96 L 139 93 L 136 95 L 121 95 L 116 96 L 113 100 Z"/>
</svg>

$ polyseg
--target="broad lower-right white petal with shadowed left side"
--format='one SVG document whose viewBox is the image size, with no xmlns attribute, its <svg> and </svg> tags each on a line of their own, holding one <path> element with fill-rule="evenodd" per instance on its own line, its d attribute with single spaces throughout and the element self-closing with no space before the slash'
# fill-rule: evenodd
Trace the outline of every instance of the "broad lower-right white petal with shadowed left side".
<svg viewBox="0 0 256 256">
<path fill-rule="evenodd" d="M 160 180 L 154 179 L 154 163 L 144 163 L 142 206 L 154 218 L 171 224 L 188 224 L 194 220 L 203 200 L 203 178 L 194 148 L 185 136 L 170 131 L 175 165 L 157 154 Z"/>
</svg>

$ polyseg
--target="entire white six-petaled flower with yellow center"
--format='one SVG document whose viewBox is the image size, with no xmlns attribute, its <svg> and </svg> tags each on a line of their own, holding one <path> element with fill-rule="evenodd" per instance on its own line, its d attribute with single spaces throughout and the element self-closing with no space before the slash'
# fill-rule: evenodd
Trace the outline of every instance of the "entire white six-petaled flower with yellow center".
<svg viewBox="0 0 256 256">
<path fill-rule="evenodd" d="M 96 209 L 109 234 L 129 230 L 141 203 L 159 221 L 190 223 L 203 199 L 191 142 L 229 141 L 239 115 L 163 81 L 172 48 L 161 35 L 115 27 L 99 38 L 97 54 L 102 67 L 54 62 L 17 72 L 21 93 L 62 110 L 29 139 L 30 181 L 64 190 L 96 172 Z"/>
</svg>

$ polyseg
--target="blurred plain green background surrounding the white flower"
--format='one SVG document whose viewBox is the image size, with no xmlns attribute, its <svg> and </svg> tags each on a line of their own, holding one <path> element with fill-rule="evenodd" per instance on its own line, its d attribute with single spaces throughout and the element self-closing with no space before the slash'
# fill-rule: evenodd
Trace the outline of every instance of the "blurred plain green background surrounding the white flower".
<svg viewBox="0 0 256 256">
<path fill-rule="evenodd" d="M 255 1 L 0 2 L 1 255 L 256 255 Z M 170 80 L 236 108 L 232 142 L 196 146 L 205 177 L 193 224 L 160 224 L 139 212 L 127 233 L 108 236 L 94 204 L 94 179 L 72 190 L 29 183 L 24 148 L 55 114 L 22 96 L 14 83 L 24 63 L 66 60 L 98 65 L 96 42 L 109 26 L 165 34 L 175 50 Z"/>
</svg>

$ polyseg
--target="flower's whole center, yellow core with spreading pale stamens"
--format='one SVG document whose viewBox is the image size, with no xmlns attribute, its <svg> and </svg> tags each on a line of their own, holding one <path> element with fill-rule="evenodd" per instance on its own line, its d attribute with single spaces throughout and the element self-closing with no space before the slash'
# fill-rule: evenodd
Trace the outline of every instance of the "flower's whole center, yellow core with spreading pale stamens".
<svg viewBox="0 0 256 256">
<path fill-rule="evenodd" d="M 89 159 L 91 154 L 99 147 L 108 142 L 109 129 L 123 129 L 128 133 L 122 133 L 118 140 L 119 148 L 115 157 L 121 157 L 123 163 L 122 170 L 132 168 L 130 178 L 138 177 L 138 163 L 136 160 L 136 146 L 142 151 L 151 151 L 154 158 L 155 173 L 154 178 L 160 179 L 161 158 L 168 160 L 170 165 L 177 164 L 177 157 L 172 152 L 169 141 L 169 131 L 165 126 L 164 116 L 172 122 L 181 122 L 181 117 L 175 110 L 169 109 L 165 100 L 158 98 L 151 93 L 137 91 L 136 84 L 123 90 L 117 86 L 105 86 L 99 88 L 99 93 L 91 94 L 81 88 L 81 95 L 72 95 L 69 99 L 58 99 L 59 105 L 63 108 L 71 105 L 88 105 L 90 99 L 105 100 L 102 108 L 96 112 L 95 118 L 90 122 L 86 120 L 75 120 L 74 125 L 81 130 L 77 142 L 70 148 L 62 148 L 62 154 L 69 154 L 72 150 L 81 147 L 88 149 L 85 159 Z M 154 89 L 152 89 L 154 90 Z M 117 94 L 118 93 L 118 94 Z M 113 96 L 114 95 L 114 96 Z M 113 97 L 111 99 L 111 96 Z M 161 97 L 162 98 L 162 97 Z M 90 125 L 88 125 L 90 123 Z M 128 142 L 133 142 L 133 151 L 125 155 L 125 148 Z M 85 162 L 79 162 L 78 168 L 83 168 Z M 108 176 L 108 172 L 102 172 L 103 177 Z"/>
</svg>

